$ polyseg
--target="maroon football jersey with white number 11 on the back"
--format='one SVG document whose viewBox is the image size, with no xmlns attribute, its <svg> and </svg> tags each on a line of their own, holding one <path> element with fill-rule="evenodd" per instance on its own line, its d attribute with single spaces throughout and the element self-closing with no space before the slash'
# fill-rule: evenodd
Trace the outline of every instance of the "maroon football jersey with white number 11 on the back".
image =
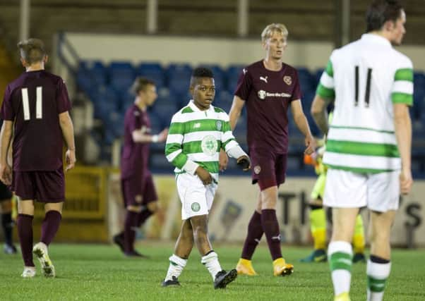
<svg viewBox="0 0 425 301">
<path fill-rule="evenodd" d="M 62 166 L 59 113 L 70 109 L 64 80 L 45 70 L 22 73 L 6 87 L 0 116 L 15 122 L 14 171 L 56 171 Z"/>
</svg>

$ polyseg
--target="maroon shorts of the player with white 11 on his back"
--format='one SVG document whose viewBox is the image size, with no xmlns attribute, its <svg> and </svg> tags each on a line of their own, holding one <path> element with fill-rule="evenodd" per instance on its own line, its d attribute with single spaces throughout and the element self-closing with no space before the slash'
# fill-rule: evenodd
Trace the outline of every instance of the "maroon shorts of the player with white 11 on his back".
<svg viewBox="0 0 425 301">
<path fill-rule="evenodd" d="M 20 199 L 43 203 L 65 200 L 64 168 L 56 171 L 13 171 L 12 190 Z"/>
</svg>

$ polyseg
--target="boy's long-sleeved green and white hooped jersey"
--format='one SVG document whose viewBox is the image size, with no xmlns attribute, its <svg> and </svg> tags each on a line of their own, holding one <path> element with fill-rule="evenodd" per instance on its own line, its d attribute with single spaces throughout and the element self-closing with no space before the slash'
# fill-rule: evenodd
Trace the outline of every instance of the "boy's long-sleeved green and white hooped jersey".
<svg viewBox="0 0 425 301">
<path fill-rule="evenodd" d="M 227 152 L 237 145 L 225 111 L 214 106 L 200 111 L 191 101 L 172 117 L 165 155 L 176 166 L 175 173 L 184 173 L 183 166 L 191 160 L 210 172 L 217 181 L 220 148 Z"/>
</svg>

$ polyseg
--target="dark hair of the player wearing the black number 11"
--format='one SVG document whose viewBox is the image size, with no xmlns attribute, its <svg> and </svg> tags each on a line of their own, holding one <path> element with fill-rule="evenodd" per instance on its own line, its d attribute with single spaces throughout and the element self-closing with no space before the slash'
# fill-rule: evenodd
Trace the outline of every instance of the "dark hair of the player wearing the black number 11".
<svg viewBox="0 0 425 301">
<path fill-rule="evenodd" d="M 374 0 L 366 11 L 366 32 L 381 30 L 387 21 L 395 22 L 402 9 L 398 0 Z"/>
</svg>

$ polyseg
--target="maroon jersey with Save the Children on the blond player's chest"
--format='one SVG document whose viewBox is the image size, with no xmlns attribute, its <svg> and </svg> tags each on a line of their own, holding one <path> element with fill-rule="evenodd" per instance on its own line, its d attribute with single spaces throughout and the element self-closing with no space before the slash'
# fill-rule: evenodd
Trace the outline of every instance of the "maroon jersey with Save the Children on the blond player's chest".
<svg viewBox="0 0 425 301">
<path fill-rule="evenodd" d="M 258 61 L 242 70 L 234 94 L 246 101 L 250 151 L 268 149 L 286 154 L 287 109 L 290 102 L 301 99 L 297 70 L 283 63 L 281 70 L 272 71 Z"/>
</svg>

